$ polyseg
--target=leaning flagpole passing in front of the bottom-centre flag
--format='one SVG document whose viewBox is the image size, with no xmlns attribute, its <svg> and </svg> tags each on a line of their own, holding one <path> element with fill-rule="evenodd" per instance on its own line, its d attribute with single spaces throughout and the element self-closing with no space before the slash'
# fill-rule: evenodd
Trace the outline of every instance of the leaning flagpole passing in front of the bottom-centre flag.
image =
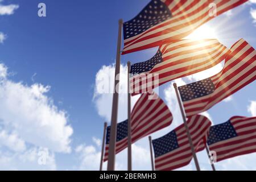
<svg viewBox="0 0 256 182">
<path fill-rule="evenodd" d="M 185 129 L 186 129 L 186 131 L 187 131 L 189 144 L 190 144 L 191 151 L 192 151 L 192 154 L 193 154 L 193 159 L 194 159 L 195 164 L 196 164 L 196 169 L 197 169 L 197 171 L 200 171 L 199 162 L 198 162 L 198 160 L 197 160 L 195 148 L 194 148 L 194 146 L 193 146 L 193 142 L 192 142 L 192 139 L 191 139 L 191 134 L 190 134 L 189 129 L 188 129 L 187 119 L 186 119 L 186 117 L 185 117 L 185 111 L 183 110 L 183 106 L 181 105 L 181 100 L 180 100 L 179 92 L 178 92 L 178 90 L 177 90 L 177 84 L 176 84 L 176 83 L 174 83 L 174 88 L 175 88 L 177 100 L 178 100 L 178 102 L 179 102 L 181 115 L 182 115 L 182 118 L 183 118 L 183 121 L 184 121 L 184 126 L 185 126 Z"/>
</svg>

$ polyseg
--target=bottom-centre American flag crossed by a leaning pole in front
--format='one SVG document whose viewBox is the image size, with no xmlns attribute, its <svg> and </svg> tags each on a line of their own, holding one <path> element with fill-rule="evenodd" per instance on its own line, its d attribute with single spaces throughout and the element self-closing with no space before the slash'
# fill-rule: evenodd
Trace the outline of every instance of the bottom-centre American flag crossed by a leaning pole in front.
<svg viewBox="0 0 256 182">
<path fill-rule="evenodd" d="M 188 128 L 195 151 L 204 150 L 211 122 L 203 115 L 188 118 Z M 155 153 L 155 169 L 170 171 L 187 166 L 193 158 L 184 124 L 167 135 L 152 140 Z M 200 147 L 199 147 L 200 146 Z"/>
</svg>

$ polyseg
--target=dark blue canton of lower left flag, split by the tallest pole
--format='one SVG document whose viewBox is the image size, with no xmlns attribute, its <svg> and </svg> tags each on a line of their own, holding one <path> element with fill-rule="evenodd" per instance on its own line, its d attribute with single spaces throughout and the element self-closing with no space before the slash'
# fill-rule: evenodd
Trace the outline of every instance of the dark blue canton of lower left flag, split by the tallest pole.
<svg viewBox="0 0 256 182">
<path fill-rule="evenodd" d="M 109 144 L 110 139 L 110 126 L 107 127 L 106 144 Z M 117 142 L 128 137 L 128 121 L 117 123 Z"/>
</svg>

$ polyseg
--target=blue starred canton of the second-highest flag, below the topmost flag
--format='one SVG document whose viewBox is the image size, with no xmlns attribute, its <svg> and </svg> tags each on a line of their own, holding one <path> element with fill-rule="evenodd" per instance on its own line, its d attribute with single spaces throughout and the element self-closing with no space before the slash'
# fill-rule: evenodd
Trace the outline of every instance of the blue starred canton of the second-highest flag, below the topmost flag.
<svg viewBox="0 0 256 182">
<path fill-rule="evenodd" d="M 162 52 L 158 50 L 155 56 L 152 57 L 150 60 L 131 65 L 130 73 L 133 75 L 137 75 L 139 73 L 148 72 L 151 69 L 153 69 L 156 64 L 159 64 L 162 62 L 163 62 Z"/>
</svg>

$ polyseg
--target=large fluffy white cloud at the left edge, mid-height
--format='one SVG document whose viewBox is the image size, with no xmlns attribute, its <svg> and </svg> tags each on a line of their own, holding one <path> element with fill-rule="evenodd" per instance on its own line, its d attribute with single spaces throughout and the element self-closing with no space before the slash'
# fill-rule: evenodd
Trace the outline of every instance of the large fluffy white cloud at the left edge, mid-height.
<svg viewBox="0 0 256 182">
<path fill-rule="evenodd" d="M 7 68 L 0 64 L 0 131 L 5 131 L 2 138 L 10 142 L 5 146 L 17 150 L 16 142 L 21 150 L 23 141 L 55 152 L 71 152 L 73 130 L 65 111 L 46 95 L 50 87 L 13 82 L 7 75 Z"/>
</svg>

